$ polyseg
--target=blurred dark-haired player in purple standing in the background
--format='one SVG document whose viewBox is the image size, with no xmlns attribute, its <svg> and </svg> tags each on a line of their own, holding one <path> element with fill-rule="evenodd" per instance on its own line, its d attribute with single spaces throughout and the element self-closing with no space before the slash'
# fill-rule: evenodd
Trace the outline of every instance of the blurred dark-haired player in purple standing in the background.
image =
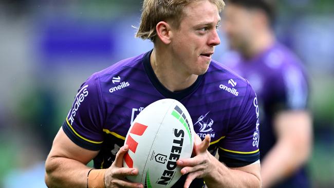
<svg viewBox="0 0 334 188">
<path fill-rule="evenodd" d="M 249 80 L 257 93 L 263 187 L 309 187 L 303 165 L 312 145 L 308 83 L 300 60 L 276 41 L 274 5 L 228 0 L 222 25 L 229 45 L 222 63 Z"/>
</svg>

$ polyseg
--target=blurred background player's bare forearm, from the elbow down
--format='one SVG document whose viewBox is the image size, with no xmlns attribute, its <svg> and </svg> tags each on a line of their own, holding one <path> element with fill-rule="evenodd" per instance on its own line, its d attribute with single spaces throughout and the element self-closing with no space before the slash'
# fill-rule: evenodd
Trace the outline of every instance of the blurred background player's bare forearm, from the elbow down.
<svg viewBox="0 0 334 188">
<path fill-rule="evenodd" d="M 284 140 L 277 142 L 262 161 L 263 187 L 269 187 L 298 170 L 310 153 L 309 144 L 303 147 L 298 149 L 292 142 Z"/>
</svg>

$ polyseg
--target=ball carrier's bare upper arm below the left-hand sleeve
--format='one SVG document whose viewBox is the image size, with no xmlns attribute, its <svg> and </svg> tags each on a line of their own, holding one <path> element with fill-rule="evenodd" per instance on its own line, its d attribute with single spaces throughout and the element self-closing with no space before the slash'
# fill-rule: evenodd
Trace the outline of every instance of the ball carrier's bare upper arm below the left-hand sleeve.
<svg viewBox="0 0 334 188">
<path fill-rule="evenodd" d="M 78 146 L 67 137 L 63 128 L 60 128 L 53 140 L 48 159 L 63 157 L 87 164 L 91 159 L 96 157 L 98 153 L 99 151 L 90 151 Z"/>
</svg>

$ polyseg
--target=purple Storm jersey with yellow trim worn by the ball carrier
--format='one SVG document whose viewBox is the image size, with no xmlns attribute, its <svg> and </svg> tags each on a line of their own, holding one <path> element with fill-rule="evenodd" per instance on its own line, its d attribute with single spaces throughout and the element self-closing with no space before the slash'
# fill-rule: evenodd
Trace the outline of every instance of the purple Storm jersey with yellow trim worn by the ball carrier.
<svg viewBox="0 0 334 188">
<path fill-rule="evenodd" d="M 81 85 L 63 124 L 77 145 L 100 151 L 95 168 L 107 168 L 124 145 L 131 123 L 147 105 L 176 99 L 189 111 L 201 139 L 211 137 L 209 151 L 229 167 L 259 159 L 258 106 L 249 82 L 212 61 L 193 85 L 178 92 L 166 89 L 150 63 L 151 52 L 120 61 L 93 74 Z M 181 187 L 185 176 L 174 185 Z M 201 187 L 196 179 L 193 187 Z"/>
</svg>

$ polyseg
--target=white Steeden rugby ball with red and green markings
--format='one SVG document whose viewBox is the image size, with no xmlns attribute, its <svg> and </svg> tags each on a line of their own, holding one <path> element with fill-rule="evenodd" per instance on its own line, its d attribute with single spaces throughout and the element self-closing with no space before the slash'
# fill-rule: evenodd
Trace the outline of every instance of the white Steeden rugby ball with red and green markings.
<svg viewBox="0 0 334 188">
<path fill-rule="evenodd" d="M 133 121 L 125 138 L 129 146 L 123 166 L 138 169 L 127 176 L 145 187 L 171 187 L 181 177 L 178 159 L 190 158 L 194 127 L 189 112 L 174 99 L 146 106 Z"/>
</svg>

